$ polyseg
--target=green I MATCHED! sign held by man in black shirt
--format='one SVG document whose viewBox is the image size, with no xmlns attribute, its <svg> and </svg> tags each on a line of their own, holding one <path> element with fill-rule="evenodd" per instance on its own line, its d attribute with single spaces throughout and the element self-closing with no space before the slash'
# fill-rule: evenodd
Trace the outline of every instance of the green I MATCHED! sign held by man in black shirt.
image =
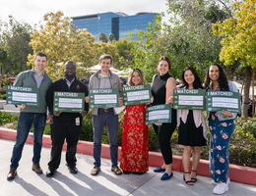
<svg viewBox="0 0 256 196">
<path fill-rule="evenodd" d="M 85 108 L 85 93 L 54 92 L 53 111 L 79 113 Z"/>
</svg>

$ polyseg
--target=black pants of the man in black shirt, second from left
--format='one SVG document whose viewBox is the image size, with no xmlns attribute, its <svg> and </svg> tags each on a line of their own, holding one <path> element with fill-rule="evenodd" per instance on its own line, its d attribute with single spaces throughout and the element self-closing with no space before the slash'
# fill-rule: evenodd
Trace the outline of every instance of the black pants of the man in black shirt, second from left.
<svg viewBox="0 0 256 196">
<path fill-rule="evenodd" d="M 81 119 L 80 119 L 81 120 Z M 79 135 L 81 132 L 81 123 L 76 125 L 75 119 L 69 121 L 56 121 L 53 119 L 53 123 L 50 125 L 51 132 L 51 158 L 48 163 L 49 170 L 57 170 L 60 165 L 61 152 L 64 144 L 64 140 L 67 142 L 66 162 L 71 168 L 76 166 L 76 152 Z"/>
</svg>

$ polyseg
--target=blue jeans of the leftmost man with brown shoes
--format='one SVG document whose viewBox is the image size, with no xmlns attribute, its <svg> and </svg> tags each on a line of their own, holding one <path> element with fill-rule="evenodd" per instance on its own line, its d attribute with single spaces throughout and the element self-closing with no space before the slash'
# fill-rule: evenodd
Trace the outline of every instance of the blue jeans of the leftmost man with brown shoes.
<svg viewBox="0 0 256 196">
<path fill-rule="evenodd" d="M 11 158 L 11 169 L 17 169 L 22 158 L 23 147 L 33 125 L 33 157 L 32 164 L 38 165 L 42 146 L 42 134 L 45 127 L 46 114 L 21 113 L 18 119 L 16 143 Z"/>
</svg>

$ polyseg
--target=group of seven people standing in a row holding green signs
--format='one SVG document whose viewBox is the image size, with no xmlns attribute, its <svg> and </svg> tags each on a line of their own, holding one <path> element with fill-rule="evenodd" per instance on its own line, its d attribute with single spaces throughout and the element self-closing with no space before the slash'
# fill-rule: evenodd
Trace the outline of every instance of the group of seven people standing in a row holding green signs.
<svg viewBox="0 0 256 196">
<path fill-rule="evenodd" d="M 89 111 L 90 97 L 87 86 L 76 77 L 76 65 L 72 61 L 64 66 L 64 77 L 52 82 L 44 72 L 47 57 L 37 53 L 34 58 L 34 68 L 31 71 L 20 73 L 15 86 L 33 87 L 39 90 L 39 106 L 20 105 L 21 113 L 18 120 L 17 139 L 13 148 L 10 171 L 7 179 L 12 180 L 17 174 L 19 161 L 29 131 L 33 125 L 33 157 L 32 171 L 42 173 L 39 166 L 42 146 L 42 133 L 46 119 L 50 122 L 51 156 L 46 176 L 53 176 L 61 161 L 61 151 L 64 140 L 67 142 L 66 163 L 71 173 L 77 173 L 76 149 L 81 132 L 83 117 Z M 89 89 L 117 88 L 119 89 L 119 106 L 123 105 L 122 84 L 117 74 L 112 73 L 112 58 L 102 55 L 99 58 L 100 70 L 90 77 Z M 173 104 L 173 89 L 200 89 L 203 88 L 198 73 L 192 67 L 187 67 L 181 74 L 182 84 L 176 86 L 175 79 L 170 74 L 170 61 L 167 57 L 160 57 L 157 65 L 158 74 L 152 80 L 151 105 Z M 128 86 L 144 84 L 141 70 L 135 68 L 128 75 Z M 224 70 L 218 64 L 209 67 L 204 88 L 212 91 L 237 92 L 235 85 L 227 81 Z M 64 113 L 53 110 L 54 91 L 83 92 L 85 93 L 85 108 L 80 113 Z M 145 124 L 147 104 L 126 106 L 122 124 L 122 148 L 120 168 L 117 163 L 117 132 L 118 114 L 116 108 L 93 108 L 94 131 L 94 167 L 92 175 L 100 172 L 101 138 L 104 125 L 107 125 L 110 143 L 111 171 L 115 174 L 135 173 L 142 174 L 149 171 L 149 133 Z M 48 108 L 48 116 L 46 113 Z M 203 112 L 199 110 L 171 109 L 171 123 L 154 123 L 153 127 L 158 136 L 163 164 L 154 172 L 163 172 L 161 180 L 173 176 L 171 171 L 172 152 L 170 138 L 176 126 L 178 127 L 178 143 L 183 146 L 183 179 L 186 184 L 194 185 L 197 182 L 197 166 L 200 160 L 200 147 L 207 144 L 207 124 Z M 211 112 L 207 114 L 210 136 L 210 173 L 213 183 L 216 184 L 213 192 L 224 194 L 228 190 L 228 147 L 231 134 L 235 127 L 236 114 L 227 111 Z M 189 170 L 192 155 L 192 169 Z"/>
</svg>

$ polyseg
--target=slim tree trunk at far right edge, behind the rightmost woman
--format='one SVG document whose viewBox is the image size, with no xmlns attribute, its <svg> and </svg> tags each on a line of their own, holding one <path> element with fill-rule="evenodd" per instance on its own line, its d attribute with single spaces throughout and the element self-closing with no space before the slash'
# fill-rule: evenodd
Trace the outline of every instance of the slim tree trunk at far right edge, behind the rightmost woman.
<svg viewBox="0 0 256 196">
<path fill-rule="evenodd" d="M 249 109 L 249 93 L 251 85 L 251 67 L 245 67 L 244 73 L 244 88 L 242 96 L 242 116 L 248 118 L 248 109 Z"/>
</svg>

